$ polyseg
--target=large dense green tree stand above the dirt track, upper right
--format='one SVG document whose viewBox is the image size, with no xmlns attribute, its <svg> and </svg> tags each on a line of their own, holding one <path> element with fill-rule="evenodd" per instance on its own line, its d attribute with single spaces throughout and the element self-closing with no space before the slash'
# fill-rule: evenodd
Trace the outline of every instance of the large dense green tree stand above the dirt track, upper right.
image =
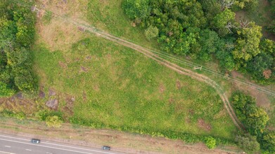
<svg viewBox="0 0 275 154">
<path fill-rule="evenodd" d="M 213 57 L 229 70 L 250 73 L 261 83 L 275 80 L 275 43 L 262 38 L 255 22 L 235 20 L 234 10 L 252 10 L 257 0 L 124 0 L 125 14 L 155 38 L 162 50 L 205 62 Z"/>
</svg>

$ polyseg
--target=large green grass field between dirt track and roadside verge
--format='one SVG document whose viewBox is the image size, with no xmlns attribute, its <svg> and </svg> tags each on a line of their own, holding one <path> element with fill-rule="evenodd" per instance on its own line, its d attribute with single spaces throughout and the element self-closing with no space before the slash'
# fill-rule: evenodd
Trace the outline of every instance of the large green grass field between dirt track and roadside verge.
<svg viewBox="0 0 275 154">
<path fill-rule="evenodd" d="M 34 57 L 45 89 L 75 97 L 72 118 L 226 139 L 236 132 L 212 87 L 103 38 L 84 38 L 67 51 L 36 45 Z"/>
</svg>

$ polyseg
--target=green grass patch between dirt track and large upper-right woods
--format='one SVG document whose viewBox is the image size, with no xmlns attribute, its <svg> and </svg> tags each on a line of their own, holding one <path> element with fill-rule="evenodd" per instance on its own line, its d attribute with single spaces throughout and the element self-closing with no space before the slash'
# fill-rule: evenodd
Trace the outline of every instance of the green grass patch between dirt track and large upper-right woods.
<svg viewBox="0 0 275 154">
<path fill-rule="evenodd" d="M 116 36 L 122 36 L 135 43 L 147 47 L 160 49 L 157 41 L 148 41 L 141 27 L 132 26 L 121 7 L 122 0 L 115 1 L 91 1 L 87 3 L 87 20 L 91 25 L 110 32 Z"/>
</svg>

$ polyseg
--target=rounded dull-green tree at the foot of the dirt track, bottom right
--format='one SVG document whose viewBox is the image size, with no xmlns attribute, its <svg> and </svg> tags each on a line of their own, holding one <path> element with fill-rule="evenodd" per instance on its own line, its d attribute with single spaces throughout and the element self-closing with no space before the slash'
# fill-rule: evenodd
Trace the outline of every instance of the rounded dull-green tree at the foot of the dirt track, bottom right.
<svg viewBox="0 0 275 154">
<path fill-rule="evenodd" d="M 245 136 L 237 135 L 235 141 L 244 151 L 256 152 L 260 150 L 260 144 L 257 142 L 257 138 L 252 137 L 250 134 L 245 134 Z"/>
</svg>

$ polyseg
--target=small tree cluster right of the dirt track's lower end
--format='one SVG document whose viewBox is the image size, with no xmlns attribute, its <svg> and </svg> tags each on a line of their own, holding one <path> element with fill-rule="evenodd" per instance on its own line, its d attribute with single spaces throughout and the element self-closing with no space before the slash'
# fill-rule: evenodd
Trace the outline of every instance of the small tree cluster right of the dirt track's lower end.
<svg viewBox="0 0 275 154">
<path fill-rule="evenodd" d="M 236 116 L 249 132 L 244 136 L 238 135 L 236 137 L 237 144 L 247 151 L 257 151 L 261 147 L 267 153 L 275 153 L 274 131 L 266 128 L 269 120 L 267 113 L 257 107 L 255 99 L 241 92 L 234 93 L 231 101 Z"/>
</svg>

